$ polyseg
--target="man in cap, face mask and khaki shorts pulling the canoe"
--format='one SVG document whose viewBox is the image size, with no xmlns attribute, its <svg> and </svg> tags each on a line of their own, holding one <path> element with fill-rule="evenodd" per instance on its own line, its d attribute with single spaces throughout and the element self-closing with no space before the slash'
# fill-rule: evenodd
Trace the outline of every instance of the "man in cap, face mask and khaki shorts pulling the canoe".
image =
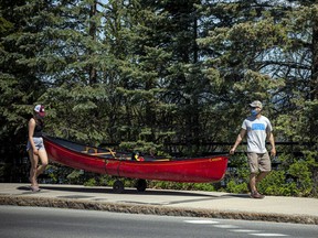
<svg viewBox="0 0 318 238">
<path fill-rule="evenodd" d="M 251 116 L 243 121 L 241 132 L 230 150 L 230 154 L 234 154 L 237 145 L 247 133 L 247 159 L 251 171 L 248 190 L 252 198 L 264 198 L 264 195 L 257 192 L 256 184 L 272 170 L 271 158 L 266 150 L 266 138 L 268 138 L 272 147 L 272 156 L 276 155 L 275 140 L 271 121 L 261 115 L 263 110 L 262 102 L 255 100 L 250 106 Z"/>
</svg>

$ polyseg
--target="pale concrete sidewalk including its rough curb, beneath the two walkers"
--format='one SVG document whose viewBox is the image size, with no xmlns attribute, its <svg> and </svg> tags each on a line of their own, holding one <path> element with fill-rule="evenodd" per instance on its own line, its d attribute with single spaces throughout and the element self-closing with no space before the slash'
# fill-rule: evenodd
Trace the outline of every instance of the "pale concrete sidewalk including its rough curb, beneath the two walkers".
<svg viewBox="0 0 318 238">
<path fill-rule="evenodd" d="M 43 184 L 41 192 L 32 193 L 29 186 L 0 183 L 0 205 L 318 225 L 317 198 L 266 196 L 252 199 L 248 194 L 159 190 L 139 193 L 135 188 L 116 194 L 112 187 L 51 184 Z"/>
</svg>

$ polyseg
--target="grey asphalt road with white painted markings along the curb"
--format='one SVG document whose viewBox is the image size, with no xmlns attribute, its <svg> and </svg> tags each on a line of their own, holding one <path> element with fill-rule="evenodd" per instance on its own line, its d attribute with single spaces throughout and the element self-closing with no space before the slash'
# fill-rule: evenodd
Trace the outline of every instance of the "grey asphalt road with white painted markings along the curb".
<svg viewBox="0 0 318 238">
<path fill-rule="evenodd" d="M 317 225 L 0 206 L 1 238 L 318 237 Z"/>
</svg>

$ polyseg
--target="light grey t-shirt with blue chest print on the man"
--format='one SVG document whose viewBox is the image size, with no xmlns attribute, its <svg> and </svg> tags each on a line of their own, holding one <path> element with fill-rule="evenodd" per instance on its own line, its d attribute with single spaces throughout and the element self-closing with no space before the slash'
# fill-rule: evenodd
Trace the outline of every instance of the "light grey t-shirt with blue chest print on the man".
<svg viewBox="0 0 318 238">
<path fill-rule="evenodd" d="M 265 153 L 267 133 L 273 131 L 273 127 L 268 118 L 261 116 L 248 117 L 243 121 L 242 129 L 247 134 L 247 152 Z"/>
</svg>

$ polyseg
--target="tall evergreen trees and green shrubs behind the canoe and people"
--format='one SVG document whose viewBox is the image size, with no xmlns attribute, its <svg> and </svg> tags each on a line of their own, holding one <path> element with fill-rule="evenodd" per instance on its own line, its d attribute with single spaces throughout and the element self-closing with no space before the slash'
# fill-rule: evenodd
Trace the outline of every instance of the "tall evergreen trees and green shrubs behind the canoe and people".
<svg viewBox="0 0 318 238">
<path fill-rule="evenodd" d="M 0 94 L 1 181 L 28 177 L 21 163 L 35 104 L 46 106 L 53 136 L 200 155 L 226 152 L 212 142 L 234 142 L 258 99 L 276 141 L 296 143 L 278 145 L 279 170 L 262 192 L 317 196 L 315 0 L 1 0 Z M 245 192 L 244 159 L 230 165 L 222 190 Z M 106 180 L 55 166 L 47 173 L 56 183 Z"/>
</svg>

